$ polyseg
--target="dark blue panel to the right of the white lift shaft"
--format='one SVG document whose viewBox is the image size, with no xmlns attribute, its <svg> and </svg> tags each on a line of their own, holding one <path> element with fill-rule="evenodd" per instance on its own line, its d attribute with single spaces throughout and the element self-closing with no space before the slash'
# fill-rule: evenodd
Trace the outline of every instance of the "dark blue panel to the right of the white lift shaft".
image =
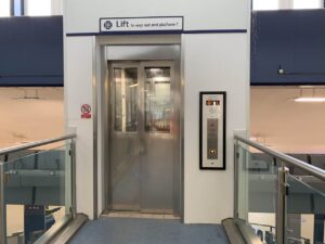
<svg viewBox="0 0 325 244">
<path fill-rule="evenodd" d="M 324 9 L 258 11 L 251 22 L 251 85 L 325 85 Z"/>
</svg>

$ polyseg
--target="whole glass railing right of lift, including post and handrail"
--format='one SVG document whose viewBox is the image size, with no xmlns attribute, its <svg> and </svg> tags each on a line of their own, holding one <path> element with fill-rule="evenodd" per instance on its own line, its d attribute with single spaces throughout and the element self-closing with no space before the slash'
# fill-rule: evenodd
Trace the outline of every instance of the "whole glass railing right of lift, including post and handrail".
<svg viewBox="0 0 325 244">
<path fill-rule="evenodd" d="M 292 156 L 235 136 L 234 222 L 266 244 L 324 244 L 325 171 Z"/>
</svg>

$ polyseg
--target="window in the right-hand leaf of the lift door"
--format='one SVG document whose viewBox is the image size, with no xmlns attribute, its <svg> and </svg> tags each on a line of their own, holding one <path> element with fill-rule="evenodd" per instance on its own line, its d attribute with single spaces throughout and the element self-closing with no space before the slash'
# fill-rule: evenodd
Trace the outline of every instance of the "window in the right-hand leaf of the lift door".
<svg viewBox="0 0 325 244">
<path fill-rule="evenodd" d="M 170 132 L 170 67 L 145 68 L 145 131 Z"/>
</svg>

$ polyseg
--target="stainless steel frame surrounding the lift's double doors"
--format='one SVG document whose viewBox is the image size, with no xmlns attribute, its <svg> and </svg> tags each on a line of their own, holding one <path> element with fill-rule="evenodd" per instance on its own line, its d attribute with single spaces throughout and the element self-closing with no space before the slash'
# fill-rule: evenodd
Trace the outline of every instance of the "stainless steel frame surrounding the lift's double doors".
<svg viewBox="0 0 325 244">
<path fill-rule="evenodd" d="M 126 46 L 127 48 L 130 48 L 130 46 Z M 139 47 L 139 46 L 136 46 Z M 134 47 L 134 49 L 136 49 L 136 47 Z M 159 46 L 148 46 L 151 49 L 153 47 L 157 47 L 159 48 Z M 183 128 L 182 128 L 182 119 L 183 119 L 183 107 L 182 107 L 182 101 L 183 101 L 183 88 L 182 88 L 182 84 L 181 84 L 181 69 L 180 69 L 180 53 L 181 53 L 181 49 L 179 44 L 168 44 L 168 46 L 161 46 L 164 48 L 166 47 L 171 47 L 172 49 L 174 49 L 172 52 L 169 52 L 168 54 L 166 54 L 166 52 L 162 51 L 162 49 L 159 51 L 160 53 L 162 53 L 162 57 L 159 56 L 158 53 L 155 54 L 148 54 L 146 53 L 145 55 L 142 56 L 142 54 L 139 54 L 138 56 L 134 55 L 134 53 L 132 53 L 132 55 L 130 55 L 130 59 L 126 59 L 126 55 L 123 53 L 123 56 L 121 60 L 116 59 L 116 53 L 115 53 L 115 57 L 114 59 L 109 59 L 109 55 L 107 55 L 107 46 L 105 48 L 105 55 L 104 55 L 104 61 L 105 61 L 105 70 L 104 70 L 104 76 L 105 77 L 105 81 L 103 82 L 103 90 L 105 90 L 103 100 L 106 105 L 104 104 L 103 108 L 105 108 L 106 111 L 104 111 L 104 127 L 105 127 L 105 121 L 108 121 L 108 114 L 109 114 L 109 107 L 107 102 L 109 101 L 109 84 L 110 84 L 110 74 L 108 74 L 108 62 L 109 63 L 117 63 L 119 62 L 125 62 L 125 63 L 129 63 L 131 64 L 132 61 L 134 62 L 142 62 L 142 63 L 146 63 L 146 62 L 151 62 L 151 64 L 155 64 L 157 63 L 157 66 L 159 66 L 160 62 L 166 61 L 166 62 L 173 62 L 173 86 L 171 88 L 173 94 L 173 102 L 174 102 L 174 114 L 177 114 L 177 127 L 174 128 L 174 130 L 177 131 L 177 136 L 174 136 L 174 140 L 173 140 L 173 145 L 176 149 L 176 153 L 174 153 L 174 170 L 173 170 L 173 214 L 177 217 L 183 217 L 183 164 L 182 164 L 182 140 L 183 140 Z M 114 48 L 114 46 L 110 46 L 109 48 Z M 118 48 L 120 49 L 121 46 L 118 46 Z M 141 47 L 142 49 L 145 47 Z M 170 57 L 170 53 L 173 55 Z M 148 56 L 152 55 L 152 56 Z M 168 59 L 166 59 L 166 56 L 168 56 Z M 153 59 L 154 57 L 154 59 Z M 104 66 L 104 65 L 103 65 Z M 160 65 L 161 66 L 161 65 Z M 108 91 L 107 91 L 108 90 Z M 107 125 L 107 124 L 106 124 Z M 108 126 L 107 126 L 108 127 Z M 105 136 L 104 139 L 104 146 L 107 149 L 109 145 L 108 143 L 108 128 L 104 128 L 104 132 L 105 134 L 107 134 L 107 137 Z M 103 150 L 106 150 L 103 149 Z M 109 177 L 109 152 L 106 152 L 104 154 L 104 160 L 106 162 L 107 167 L 104 167 L 104 209 L 105 213 L 109 211 L 109 201 L 108 197 L 110 192 L 109 192 L 109 185 L 108 182 L 109 180 L 107 179 Z"/>
</svg>

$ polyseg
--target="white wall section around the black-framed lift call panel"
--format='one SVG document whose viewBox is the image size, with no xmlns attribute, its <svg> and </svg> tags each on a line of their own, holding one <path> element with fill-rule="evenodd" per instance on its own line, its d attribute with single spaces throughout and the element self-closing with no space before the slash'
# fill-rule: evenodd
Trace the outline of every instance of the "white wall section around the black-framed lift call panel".
<svg viewBox="0 0 325 244">
<path fill-rule="evenodd" d="M 183 43 L 185 221 L 220 222 L 233 215 L 233 131 L 247 128 L 247 39 L 238 34 L 186 35 Z M 226 91 L 226 170 L 203 171 L 198 169 L 198 92 L 216 90 Z"/>
</svg>

